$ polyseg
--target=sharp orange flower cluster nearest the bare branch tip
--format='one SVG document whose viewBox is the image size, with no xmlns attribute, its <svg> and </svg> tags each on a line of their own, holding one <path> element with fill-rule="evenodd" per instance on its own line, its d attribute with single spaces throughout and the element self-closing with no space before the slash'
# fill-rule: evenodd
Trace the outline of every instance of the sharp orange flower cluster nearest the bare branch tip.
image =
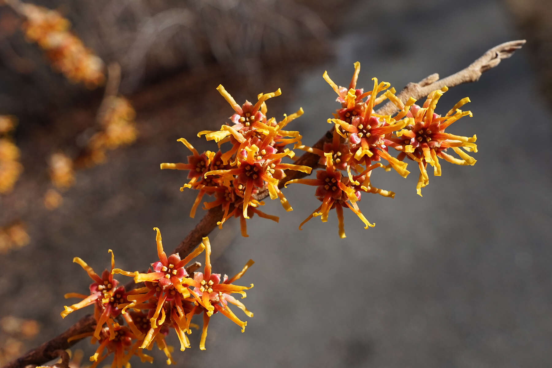
<svg viewBox="0 0 552 368">
<path fill-rule="evenodd" d="M 294 179 L 286 183 L 302 183 L 316 186 L 316 197 L 322 201 L 320 207 L 306 218 L 321 216 L 327 221 L 328 212 L 336 210 L 339 227 L 339 237 L 344 238 L 343 207 L 351 209 L 365 224 L 365 228 L 373 227 L 360 212 L 357 202 L 362 193 L 376 193 L 394 198 L 395 193 L 375 188 L 370 184 L 372 170 L 383 167 L 386 170 L 394 169 L 402 177 L 410 173 L 406 169 L 407 163 L 403 160 L 408 157 L 418 163 L 420 179 L 417 193 L 421 195 L 421 188 L 428 183 L 426 172 L 427 164 L 434 166 L 435 175 L 440 175 L 440 165 L 437 157 L 457 164 L 474 164 L 475 159 L 460 150 L 463 147 L 468 151 L 477 151 L 476 137 L 472 138 L 445 134 L 444 129 L 462 116 L 470 115 L 470 111 L 461 111 L 459 108 L 468 98 L 461 100 L 447 115 L 440 116 L 434 113 L 439 97 L 447 90 L 443 87 L 429 94 L 428 99 L 420 108 L 416 100 L 408 99 L 403 103 L 395 95 L 395 89 L 389 88 L 387 82 L 378 83 L 373 78 L 373 89 L 364 92 L 357 88 L 357 79 L 360 72 L 360 63 L 354 63 L 354 74 L 349 87 L 338 87 L 330 79 L 327 72 L 323 78 L 337 93 L 337 102 L 341 108 L 328 119 L 334 125 L 333 140 L 326 143 L 322 149 L 299 146 L 301 150 L 315 153 L 320 156 L 320 164 L 325 164 L 325 170 L 316 173 L 316 179 Z M 379 93 L 383 94 L 379 95 Z M 374 107 L 389 99 L 399 112 L 395 116 L 378 115 Z M 453 114 L 454 113 L 454 114 Z M 401 151 L 398 157 L 389 153 L 389 147 Z M 447 154 L 447 148 L 453 148 L 461 159 Z M 381 163 L 385 160 L 388 164 Z M 344 175 L 342 172 L 346 172 Z"/>
</svg>

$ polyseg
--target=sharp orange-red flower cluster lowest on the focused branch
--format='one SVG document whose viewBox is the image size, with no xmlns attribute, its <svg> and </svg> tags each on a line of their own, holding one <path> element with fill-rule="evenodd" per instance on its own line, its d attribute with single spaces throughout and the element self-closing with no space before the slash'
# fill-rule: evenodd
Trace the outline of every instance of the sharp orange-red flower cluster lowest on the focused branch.
<svg viewBox="0 0 552 368">
<path fill-rule="evenodd" d="M 231 294 L 241 294 L 246 297 L 245 290 L 251 286 L 233 285 L 240 279 L 247 269 L 253 264 L 249 260 L 243 269 L 232 278 L 227 275 L 215 274 L 211 271 L 211 245 L 209 238 L 203 238 L 203 242 L 184 259 L 178 253 L 167 254 L 163 251 L 161 233 L 157 231 L 157 255 L 158 260 L 151 264 L 147 273 L 138 271 L 129 272 L 115 268 L 115 260 L 112 250 L 111 269 L 103 271 L 102 275 L 94 273 L 82 259 L 76 257 L 73 262 L 78 263 L 87 271 L 94 281 L 90 287 L 89 295 L 70 293 L 66 298 L 78 297 L 82 300 L 72 306 L 66 306 L 61 316 L 79 310 L 83 307 L 94 305 L 94 318 L 97 322 L 94 332 L 77 335 L 72 339 L 92 336 L 92 343 L 98 342 L 99 347 L 91 356 L 92 368 L 96 367 L 108 355 L 114 354 L 112 367 L 128 367 L 133 355 L 139 356 L 142 361 L 152 361 L 151 356 L 144 354 L 144 349 L 151 350 L 153 345 L 162 350 L 167 356 L 167 364 L 172 364 L 172 348 L 165 342 L 166 335 L 174 330 L 180 341 L 180 348 L 184 351 L 190 347 L 188 335 L 192 328 L 198 326 L 192 323 L 195 314 L 203 314 L 203 332 L 199 348 L 205 350 L 205 339 L 209 319 L 213 314 L 220 314 L 229 318 L 245 330 L 247 322 L 241 321 L 232 312 L 229 303 L 236 305 L 248 317 L 253 313 L 248 311 L 240 301 Z M 185 268 L 190 260 L 205 251 L 205 266 L 203 273 L 194 272 L 190 278 Z M 144 282 L 144 287 L 126 290 L 113 275 L 123 274 L 134 278 L 139 284 Z"/>
</svg>

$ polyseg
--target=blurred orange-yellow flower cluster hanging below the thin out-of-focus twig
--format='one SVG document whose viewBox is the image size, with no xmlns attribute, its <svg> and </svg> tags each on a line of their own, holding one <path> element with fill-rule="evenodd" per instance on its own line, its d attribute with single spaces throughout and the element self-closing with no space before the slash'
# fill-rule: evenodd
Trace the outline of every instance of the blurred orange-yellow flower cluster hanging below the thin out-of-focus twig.
<svg viewBox="0 0 552 368">
<path fill-rule="evenodd" d="M 105 162 L 105 151 L 130 145 L 138 135 L 134 120 L 136 112 L 126 98 L 107 97 L 100 110 L 100 131 L 88 141 L 85 166 Z"/>
</svg>

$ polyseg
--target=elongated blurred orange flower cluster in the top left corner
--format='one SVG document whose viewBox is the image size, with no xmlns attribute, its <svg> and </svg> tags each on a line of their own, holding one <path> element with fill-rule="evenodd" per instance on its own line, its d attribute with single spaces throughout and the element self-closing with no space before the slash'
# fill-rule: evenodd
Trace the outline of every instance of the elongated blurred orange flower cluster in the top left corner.
<svg viewBox="0 0 552 368">
<path fill-rule="evenodd" d="M 33 4 L 22 3 L 18 9 L 25 17 L 23 30 L 26 38 L 44 50 L 56 71 L 63 73 L 70 81 L 82 82 L 89 88 L 103 84 L 102 59 L 71 33 L 71 24 L 66 18 L 55 10 Z"/>
</svg>

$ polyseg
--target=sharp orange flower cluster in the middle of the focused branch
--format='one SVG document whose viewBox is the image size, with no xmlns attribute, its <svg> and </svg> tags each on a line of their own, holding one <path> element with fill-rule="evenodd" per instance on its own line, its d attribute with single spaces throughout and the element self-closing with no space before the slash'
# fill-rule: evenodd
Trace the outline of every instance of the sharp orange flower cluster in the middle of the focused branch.
<svg viewBox="0 0 552 368">
<path fill-rule="evenodd" d="M 277 121 L 267 118 L 266 100 L 280 95 L 280 89 L 259 94 L 254 105 L 247 100 L 242 105 L 237 104 L 221 85 L 217 90 L 235 112 L 230 116 L 231 124 L 222 124 L 219 131 L 200 131 L 198 137 L 205 135 L 208 141 L 215 141 L 219 147 L 229 143 L 229 150 L 199 154 L 187 140 L 180 138 L 178 141 L 192 152 L 188 163 L 162 163 L 161 169 L 189 170 L 189 182 L 182 186 L 181 191 L 184 188 L 199 190 L 190 211 L 191 217 L 195 216 L 205 194 L 215 195 L 214 201 L 204 203 L 204 209 L 222 207 L 224 215 L 218 223 L 220 227 L 228 218 L 240 217 L 242 236 L 247 237 L 246 219 L 255 214 L 278 222 L 278 217 L 258 210 L 264 202 L 254 199 L 254 195 L 268 189 L 270 199 L 279 198 L 284 209 L 291 211 L 291 205 L 278 188 L 279 180 L 285 177 L 284 170 L 311 172 L 310 167 L 282 162 L 284 157 L 292 158 L 295 154 L 285 146 L 301 145 L 299 132 L 284 128 L 301 116 L 303 110 L 284 115 L 283 120 Z"/>
</svg>

